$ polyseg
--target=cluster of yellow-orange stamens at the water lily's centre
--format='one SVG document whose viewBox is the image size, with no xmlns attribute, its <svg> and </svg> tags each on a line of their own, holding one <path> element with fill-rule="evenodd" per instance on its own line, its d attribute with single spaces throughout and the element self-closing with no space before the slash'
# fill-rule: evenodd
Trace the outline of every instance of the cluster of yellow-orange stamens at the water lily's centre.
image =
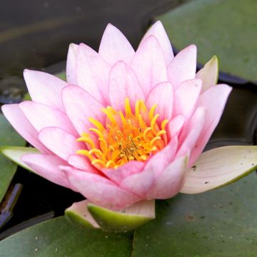
<svg viewBox="0 0 257 257">
<path fill-rule="evenodd" d="M 89 150 L 77 151 L 102 168 L 117 168 L 128 161 L 146 161 L 149 156 L 160 151 L 167 144 L 167 119 L 158 121 L 154 114 L 157 105 L 147 109 L 143 100 L 136 101 L 135 111 L 131 111 L 129 98 L 125 99 L 125 112 L 116 111 L 111 106 L 102 109 L 106 123 L 89 118 L 93 128 L 91 133 L 82 133 L 77 141 L 83 141 Z M 97 140 L 95 139 L 98 138 Z"/>
</svg>

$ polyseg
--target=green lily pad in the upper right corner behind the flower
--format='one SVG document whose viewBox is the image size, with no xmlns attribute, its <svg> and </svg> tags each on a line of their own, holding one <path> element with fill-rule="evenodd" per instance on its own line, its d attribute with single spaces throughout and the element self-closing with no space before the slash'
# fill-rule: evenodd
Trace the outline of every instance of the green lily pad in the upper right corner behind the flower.
<svg viewBox="0 0 257 257">
<path fill-rule="evenodd" d="M 216 54 L 220 71 L 257 81 L 257 1 L 196 0 L 158 16 L 171 43 L 198 47 L 198 62 Z"/>
</svg>

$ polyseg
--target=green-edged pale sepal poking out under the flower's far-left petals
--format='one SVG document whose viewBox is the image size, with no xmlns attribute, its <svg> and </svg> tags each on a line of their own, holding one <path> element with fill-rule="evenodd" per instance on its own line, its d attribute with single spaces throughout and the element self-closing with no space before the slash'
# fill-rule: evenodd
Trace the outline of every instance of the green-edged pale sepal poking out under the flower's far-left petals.
<svg viewBox="0 0 257 257">
<path fill-rule="evenodd" d="M 29 166 L 26 165 L 23 161 L 21 161 L 21 156 L 26 153 L 40 153 L 39 150 L 33 147 L 22 147 L 22 146 L 1 146 L 0 152 L 4 154 L 7 158 L 14 161 L 22 168 L 26 168 L 28 171 L 32 171 Z"/>
</svg>

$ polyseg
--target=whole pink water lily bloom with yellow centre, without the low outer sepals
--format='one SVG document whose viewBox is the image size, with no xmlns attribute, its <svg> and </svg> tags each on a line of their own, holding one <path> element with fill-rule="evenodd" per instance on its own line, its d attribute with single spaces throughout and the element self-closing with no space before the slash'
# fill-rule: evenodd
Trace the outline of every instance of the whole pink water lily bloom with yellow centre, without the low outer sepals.
<svg viewBox="0 0 257 257">
<path fill-rule="evenodd" d="M 32 101 L 4 115 L 40 151 L 22 161 L 112 209 L 183 191 L 231 92 L 216 85 L 216 58 L 196 74 L 196 46 L 174 57 L 159 21 L 136 52 L 110 24 L 99 53 L 71 44 L 66 75 L 25 70 Z"/>
</svg>

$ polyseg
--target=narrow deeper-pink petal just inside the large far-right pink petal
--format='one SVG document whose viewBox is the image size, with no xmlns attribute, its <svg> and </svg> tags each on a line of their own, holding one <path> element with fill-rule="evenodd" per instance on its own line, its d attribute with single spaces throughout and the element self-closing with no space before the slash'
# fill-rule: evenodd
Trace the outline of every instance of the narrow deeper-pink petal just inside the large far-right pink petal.
<svg viewBox="0 0 257 257">
<path fill-rule="evenodd" d="M 188 148 L 191 152 L 193 151 L 193 148 L 196 148 L 196 141 L 201 135 L 201 131 L 205 124 L 205 118 L 206 109 L 202 106 L 198 107 L 178 138 L 180 148 L 176 153 L 176 158 L 185 156 L 188 153 Z M 189 165 L 191 165 L 191 159 L 189 160 Z"/>
</svg>

